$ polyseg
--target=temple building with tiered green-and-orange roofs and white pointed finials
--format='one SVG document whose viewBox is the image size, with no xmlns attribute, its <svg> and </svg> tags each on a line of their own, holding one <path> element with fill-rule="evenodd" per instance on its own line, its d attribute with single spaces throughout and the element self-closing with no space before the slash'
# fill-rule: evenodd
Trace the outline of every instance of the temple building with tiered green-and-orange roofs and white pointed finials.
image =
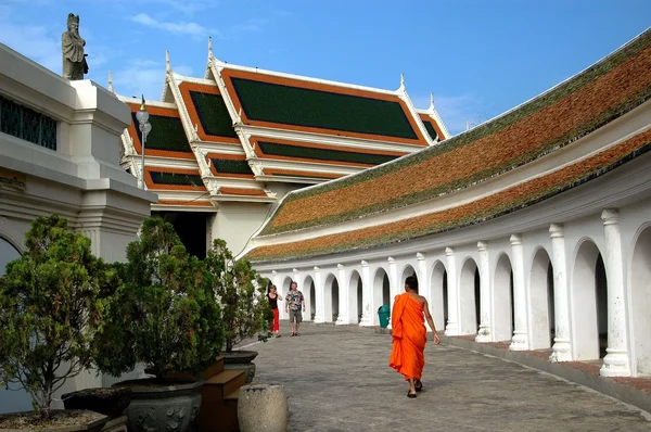
<svg viewBox="0 0 651 432">
<path fill-rule="evenodd" d="M 175 73 L 166 55 L 161 101 L 145 102 L 152 131 L 143 169 L 142 101 L 118 98 L 132 114 L 122 166 L 144 178 L 158 195 L 152 215 L 171 221 L 200 257 L 215 238 L 241 251 L 288 192 L 449 137 L 433 99 L 417 110 L 404 80 L 382 90 L 235 66 L 215 58 L 208 42 L 203 78 Z"/>
</svg>

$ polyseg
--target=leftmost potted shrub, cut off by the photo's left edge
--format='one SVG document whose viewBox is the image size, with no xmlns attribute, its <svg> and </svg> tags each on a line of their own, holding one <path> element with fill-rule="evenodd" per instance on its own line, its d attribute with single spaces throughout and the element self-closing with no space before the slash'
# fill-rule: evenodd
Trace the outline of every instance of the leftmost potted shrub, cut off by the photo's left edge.
<svg viewBox="0 0 651 432">
<path fill-rule="evenodd" d="M 0 430 L 98 430 L 106 416 L 50 406 L 66 380 L 91 366 L 92 340 L 119 278 L 58 215 L 34 220 L 25 246 L 0 279 L 0 383 L 24 389 L 34 411 L 0 416 Z"/>
</svg>

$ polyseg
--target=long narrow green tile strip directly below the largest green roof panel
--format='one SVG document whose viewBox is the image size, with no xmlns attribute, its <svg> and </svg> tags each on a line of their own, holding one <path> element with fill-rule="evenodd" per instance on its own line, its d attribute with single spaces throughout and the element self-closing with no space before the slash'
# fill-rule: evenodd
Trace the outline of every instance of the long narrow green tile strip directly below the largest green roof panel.
<svg viewBox="0 0 651 432">
<path fill-rule="evenodd" d="M 370 154 L 361 152 L 346 152 L 342 150 L 328 150 L 292 144 L 279 144 L 276 142 L 258 141 L 263 153 L 273 156 L 289 156 L 311 158 L 329 162 L 353 162 L 358 164 L 380 165 L 393 161 L 398 156 L 386 154 Z"/>
</svg>

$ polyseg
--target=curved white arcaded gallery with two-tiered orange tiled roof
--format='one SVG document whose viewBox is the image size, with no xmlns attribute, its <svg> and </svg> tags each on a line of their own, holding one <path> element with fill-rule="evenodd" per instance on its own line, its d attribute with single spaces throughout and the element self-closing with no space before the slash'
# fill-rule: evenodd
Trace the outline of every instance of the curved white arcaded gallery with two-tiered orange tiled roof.
<svg viewBox="0 0 651 432">
<path fill-rule="evenodd" d="M 651 374 L 650 99 L 651 29 L 469 131 L 290 192 L 240 256 L 281 294 L 297 281 L 317 322 L 375 326 L 416 275 L 447 335 Z"/>
</svg>

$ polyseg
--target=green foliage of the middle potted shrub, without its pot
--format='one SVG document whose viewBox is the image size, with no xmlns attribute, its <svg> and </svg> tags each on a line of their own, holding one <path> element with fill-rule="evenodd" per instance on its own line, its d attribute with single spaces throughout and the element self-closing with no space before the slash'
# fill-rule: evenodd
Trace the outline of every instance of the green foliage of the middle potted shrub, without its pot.
<svg viewBox="0 0 651 432">
<path fill-rule="evenodd" d="M 97 346 L 100 370 L 117 376 L 136 361 L 158 378 L 167 370 L 205 369 L 221 351 L 224 331 L 204 263 L 159 218 L 144 220 L 140 239 L 127 246 L 127 259 L 122 304 Z"/>
</svg>

